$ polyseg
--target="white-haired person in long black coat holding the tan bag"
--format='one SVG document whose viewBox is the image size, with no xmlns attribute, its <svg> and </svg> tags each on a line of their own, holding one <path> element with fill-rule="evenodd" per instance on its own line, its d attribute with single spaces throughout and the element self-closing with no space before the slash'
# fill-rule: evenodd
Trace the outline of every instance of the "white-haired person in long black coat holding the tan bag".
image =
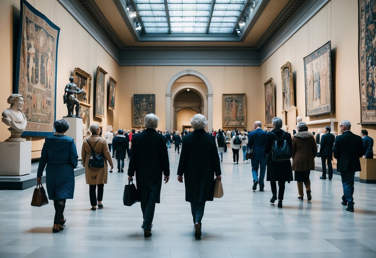
<svg viewBox="0 0 376 258">
<path fill-rule="evenodd" d="M 206 201 L 213 200 L 213 180 L 221 180 L 221 165 L 215 137 L 206 133 L 208 121 L 202 114 L 191 119 L 194 131 L 183 137 L 177 168 L 177 181 L 185 182 L 185 200 L 191 203 L 194 236 L 201 237 L 202 217 Z"/>
</svg>

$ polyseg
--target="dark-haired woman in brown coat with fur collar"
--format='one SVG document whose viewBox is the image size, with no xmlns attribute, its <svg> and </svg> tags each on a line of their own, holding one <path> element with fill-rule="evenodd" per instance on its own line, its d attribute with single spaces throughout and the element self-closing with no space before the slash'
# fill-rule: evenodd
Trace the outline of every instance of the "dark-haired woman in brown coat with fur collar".
<svg viewBox="0 0 376 258">
<path fill-rule="evenodd" d="M 303 200 L 303 182 L 306 187 L 307 200 L 311 200 L 311 181 L 309 173 L 315 169 L 315 156 L 317 155 L 317 144 L 311 132 L 308 132 L 306 123 L 299 122 L 296 126 L 297 133 L 293 138 L 293 170 L 295 170 L 295 181 L 298 184 L 299 199 Z"/>
</svg>

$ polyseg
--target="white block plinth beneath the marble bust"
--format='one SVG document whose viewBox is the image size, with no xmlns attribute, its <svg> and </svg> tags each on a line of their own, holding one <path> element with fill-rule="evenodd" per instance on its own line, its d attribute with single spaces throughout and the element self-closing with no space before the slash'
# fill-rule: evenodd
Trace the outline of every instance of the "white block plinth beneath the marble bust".
<svg viewBox="0 0 376 258">
<path fill-rule="evenodd" d="M 0 142 L 0 157 L 0 176 L 22 176 L 31 173 L 31 141 Z"/>
</svg>

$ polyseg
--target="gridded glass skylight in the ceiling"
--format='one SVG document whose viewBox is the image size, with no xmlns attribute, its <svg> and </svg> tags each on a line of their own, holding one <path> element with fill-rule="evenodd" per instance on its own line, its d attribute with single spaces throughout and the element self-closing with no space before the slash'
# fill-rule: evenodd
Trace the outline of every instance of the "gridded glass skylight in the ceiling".
<svg viewBox="0 0 376 258">
<path fill-rule="evenodd" d="M 129 0 L 145 34 L 233 34 L 247 0 Z"/>
</svg>

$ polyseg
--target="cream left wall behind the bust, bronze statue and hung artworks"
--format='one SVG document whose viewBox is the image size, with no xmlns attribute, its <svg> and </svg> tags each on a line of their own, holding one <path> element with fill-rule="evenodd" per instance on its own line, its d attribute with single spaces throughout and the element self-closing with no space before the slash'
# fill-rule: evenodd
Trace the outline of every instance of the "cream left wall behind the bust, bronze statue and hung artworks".
<svg viewBox="0 0 376 258">
<path fill-rule="evenodd" d="M 62 95 L 64 94 L 64 88 L 69 83 L 69 76 L 73 72 L 75 67 L 79 67 L 87 73 L 91 74 L 91 105 L 93 106 L 93 85 L 95 85 L 94 77 L 96 75 L 97 66 L 102 67 L 106 74 L 106 80 L 108 84 L 109 76 L 113 77 L 117 82 L 120 82 L 119 66 L 108 55 L 105 50 L 83 29 L 76 20 L 56 1 L 56 0 L 30 0 L 29 3 L 36 8 L 42 14 L 46 15 L 53 23 L 61 28 L 59 35 L 58 45 L 58 66 L 56 77 L 56 119 L 61 119 L 64 115 L 67 115 L 67 108 L 62 102 Z M 3 111 L 9 108 L 9 104 L 6 103 L 6 99 L 12 94 L 12 76 L 13 60 L 12 53 L 17 51 L 17 42 L 13 42 L 13 34 L 18 32 L 13 31 L 13 14 L 20 15 L 20 1 L 19 0 L 7 0 L 0 1 L 0 47 L 3 50 L 2 62 L 0 62 L 0 68 L 3 72 L 3 85 L 2 86 L 2 98 L 0 99 L 0 110 Z M 17 17 L 16 17 L 17 18 Z M 118 83 L 118 87 L 120 83 Z M 107 89 L 107 87 L 106 87 Z M 107 99 L 107 91 L 106 91 Z M 118 94 L 118 90 L 117 93 Z M 115 96 L 116 96 L 115 94 Z M 118 127 L 118 123 L 113 124 L 114 115 L 117 117 L 119 112 L 117 109 L 118 102 L 115 102 L 115 111 L 107 109 L 106 118 L 102 120 L 101 125 L 104 127 L 107 124 L 112 124 L 115 128 Z M 90 109 L 91 123 L 98 123 L 99 120 L 93 120 L 93 109 Z M 5 124 L 0 125 L 0 141 L 4 141 L 10 136 L 9 131 Z M 30 140 L 30 137 L 27 138 Z M 32 137 L 32 158 L 38 158 L 40 156 L 40 150 L 42 149 L 44 138 Z"/>
</svg>

